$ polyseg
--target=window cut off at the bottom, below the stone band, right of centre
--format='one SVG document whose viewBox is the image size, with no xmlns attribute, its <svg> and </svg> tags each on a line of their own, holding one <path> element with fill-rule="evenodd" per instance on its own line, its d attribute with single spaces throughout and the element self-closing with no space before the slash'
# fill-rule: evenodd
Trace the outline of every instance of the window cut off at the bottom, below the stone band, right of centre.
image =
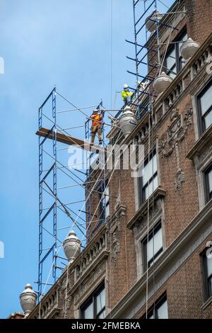
<svg viewBox="0 0 212 333">
<path fill-rule="evenodd" d="M 146 318 L 146 315 L 143 316 L 143 319 Z M 148 311 L 148 319 L 168 319 L 167 312 L 167 296 L 163 295 Z"/>
</svg>

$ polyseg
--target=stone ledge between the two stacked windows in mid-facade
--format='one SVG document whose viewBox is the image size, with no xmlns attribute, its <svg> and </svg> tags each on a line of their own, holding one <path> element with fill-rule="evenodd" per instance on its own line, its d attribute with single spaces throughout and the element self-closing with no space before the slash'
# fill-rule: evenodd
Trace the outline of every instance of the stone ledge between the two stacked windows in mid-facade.
<svg viewBox="0 0 212 333">
<path fill-rule="evenodd" d="M 146 200 L 143 205 L 141 205 L 141 207 L 139 208 L 139 210 L 136 212 L 136 214 L 131 218 L 131 220 L 129 220 L 129 222 L 127 223 L 126 227 L 128 227 L 129 229 L 132 229 L 132 227 L 134 227 L 134 224 L 136 223 L 136 221 L 141 218 L 144 213 L 146 212 L 146 210 L 152 207 L 153 205 L 153 201 L 155 203 L 156 200 L 158 200 L 158 198 L 164 198 L 165 197 L 165 190 L 162 187 L 158 187 L 153 194 L 148 198 L 148 200 Z"/>
</svg>

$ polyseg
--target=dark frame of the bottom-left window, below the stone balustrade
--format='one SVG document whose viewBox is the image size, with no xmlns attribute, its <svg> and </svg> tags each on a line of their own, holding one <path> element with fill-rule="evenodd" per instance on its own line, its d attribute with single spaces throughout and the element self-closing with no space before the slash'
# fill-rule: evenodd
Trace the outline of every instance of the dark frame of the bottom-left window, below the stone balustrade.
<svg viewBox="0 0 212 333">
<path fill-rule="evenodd" d="M 90 304 L 93 304 L 93 319 L 98 319 L 98 317 L 102 314 L 102 312 L 106 309 L 106 290 L 105 290 L 105 306 L 102 307 L 102 310 L 100 312 L 97 312 L 97 303 L 96 299 L 98 295 L 102 292 L 102 290 L 105 290 L 105 281 L 100 283 L 100 286 L 98 286 L 93 293 L 87 298 L 87 300 L 81 305 L 80 307 L 80 318 L 85 319 L 85 310 L 88 308 Z"/>
</svg>

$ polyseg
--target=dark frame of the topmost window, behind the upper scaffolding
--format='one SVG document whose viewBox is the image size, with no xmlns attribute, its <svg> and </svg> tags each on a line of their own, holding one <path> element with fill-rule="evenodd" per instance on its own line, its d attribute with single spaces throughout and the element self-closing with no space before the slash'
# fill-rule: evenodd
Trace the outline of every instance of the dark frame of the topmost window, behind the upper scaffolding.
<svg viewBox="0 0 212 333">
<path fill-rule="evenodd" d="M 172 41 L 172 43 L 175 43 L 174 45 L 171 45 L 167 49 L 167 55 L 165 56 L 164 64 L 165 64 L 165 72 L 167 75 L 170 75 L 170 73 L 173 73 L 177 76 L 177 74 L 181 71 L 182 69 L 182 55 L 180 55 L 179 52 L 179 43 L 182 41 L 182 38 L 187 35 L 187 26 L 184 26 L 180 33 L 177 35 L 177 37 Z M 167 69 L 167 58 L 169 57 L 170 53 L 175 50 L 175 66 L 173 65 L 171 69 Z M 176 73 L 172 71 L 172 68 L 176 67 Z M 174 78 L 175 79 L 175 78 Z"/>
</svg>

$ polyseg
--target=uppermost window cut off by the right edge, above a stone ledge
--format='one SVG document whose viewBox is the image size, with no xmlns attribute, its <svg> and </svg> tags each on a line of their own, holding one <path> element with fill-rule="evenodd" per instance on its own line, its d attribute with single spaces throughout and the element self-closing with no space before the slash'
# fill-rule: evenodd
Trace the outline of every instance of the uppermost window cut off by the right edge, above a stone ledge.
<svg viewBox="0 0 212 333">
<path fill-rule="evenodd" d="M 200 132 L 204 132 L 212 124 L 212 82 L 199 95 Z"/>
</svg>

